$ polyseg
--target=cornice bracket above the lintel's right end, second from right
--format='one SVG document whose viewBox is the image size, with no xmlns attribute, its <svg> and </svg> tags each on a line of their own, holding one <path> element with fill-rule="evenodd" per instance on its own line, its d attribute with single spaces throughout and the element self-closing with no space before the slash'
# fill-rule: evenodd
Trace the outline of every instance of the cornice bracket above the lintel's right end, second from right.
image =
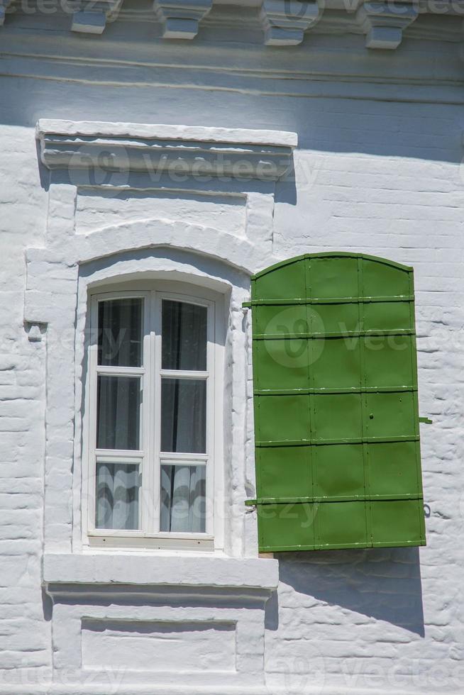
<svg viewBox="0 0 464 695">
<path fill-rule="evenodd" d="M 260 18 L 268 46 L 302 43 L 304 32 L 319 21 L 316 0 L 264 0 Z"/>
</svg>

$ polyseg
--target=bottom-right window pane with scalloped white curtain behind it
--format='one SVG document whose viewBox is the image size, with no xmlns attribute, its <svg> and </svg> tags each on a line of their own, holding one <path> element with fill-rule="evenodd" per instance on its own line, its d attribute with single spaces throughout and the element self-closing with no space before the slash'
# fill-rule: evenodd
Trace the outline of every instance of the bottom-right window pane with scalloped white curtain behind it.
<svg viewBox="0 0 464 695">
<path fill-rule="evenodd" d="M 206 466 L 161 467 L 161 531 L 204 533 Z"/>
</svg>

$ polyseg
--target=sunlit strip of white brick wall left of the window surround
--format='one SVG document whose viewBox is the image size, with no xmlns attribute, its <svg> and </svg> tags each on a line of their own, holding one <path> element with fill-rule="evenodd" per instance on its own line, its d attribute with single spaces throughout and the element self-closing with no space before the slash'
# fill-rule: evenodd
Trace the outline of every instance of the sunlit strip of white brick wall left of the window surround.
<svg viewBox="0 0 464 695">
<path fill-rule="evenodd" d="M 3 101 L 3 100 L 2 100 Z M 41 555 L 45 360 L 23 327 L 24 250 L 40 245 L 46 197 L 33 130 L 0 128 L 0 688 L 50 667 Z"/>
</svg>

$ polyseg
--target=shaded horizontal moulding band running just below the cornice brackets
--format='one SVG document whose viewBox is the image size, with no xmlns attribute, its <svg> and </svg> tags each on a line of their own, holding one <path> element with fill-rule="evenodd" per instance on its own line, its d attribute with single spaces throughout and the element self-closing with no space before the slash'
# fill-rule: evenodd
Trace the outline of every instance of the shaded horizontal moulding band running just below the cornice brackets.
<svg viewBox="0 0 464 695">
<path fill-rule="evenodd" d="M 453 7 L 450 5 L 448 9 L 452 11 Z M 297 99 L 464 103 L 460 87 L 462 32 L 455 14 L 448 21 L 443 17 L 443 28 L 439 34 L 438 23 L 425 22 L 423 26 L 423 20 L 421 22 L 419 18 L 405 32 L 406 35 L 414 33 L 414 40 L 409 38 L 402 44 L 402 55 L 397 56 L 397 59 L 394 51 L 366 50 L 365 35 L 355 21 L 355 13 L 347 17 L 350 18 L 349 26 L 340 23 L 339 14 L 336 14 L 336 19 L 331 20 L 328 27 L 324 27 L 323 18 L 314 29 L 315 33 L 323 29 L 324 33 L 330 33 L 329 28 L 335 25 L 338 36 L 341 33 L 353 33 L 352 39 L 356 43 L 350 44 L 350 50 L 343 52 L 343 65 L 338 60 L 338 40 L 324 41 L 321 45 L 318 39 L 311 42 L 311 50 L 306 50 L 304 44 L 288 51 L 280 48 L 263 50 L 259 44 L 239 43 L 240 32 L 246 29 L 246 24 L 241 23 L 236 29 L 237 34 L 233 35 L 234 40 L 221 43 L 220 51 L 214 50 L 211 53 L 209 43 L 197 43 L 195 61 L 192 64 L 185 62 L 185 45 L 182 48 L 181 42 L 165 41 L 162 50 L 158 50 L 160 46 L 153 50 L 156 44 L 150 43 L 146 67 L 138 76 L 137 88 L 166 88 L 167 94 L 175 95 L 180 80 L 182 89 L 189 91 L 192 99 L 195 99 L 196 91 L 209 90 L 213 82 L 221 85 L 221 93 L 229 95 L 224 96 L 224 99 L 233 98 L 233 94 L 238 95 L 238 100 L 242 98 L 242 94 L 255 94 L 267 99 L 272 94 L 275 99 L 294 96 Z M 140 21 L 140 17 L 134 17 L 133 22 L 136 21 Z M 8 29 L 2 32 L 2 73 L 21 79 L 27 72 L 29 77 L 40 80 L 44 87 L 50 80 L 58 80 L 66 84 L 93 85 L 97 89 L 101 82 L 133 88 L 133 72 L 128 70 L 127 60 L 131 64 L 138 60 L 140 47 L 137 42 L 128 47 L 124 60 L 116 44 L 92 40 L 94 54 L 91 60 L 82 56 L 79 40 L 74 43 L 62 41 L 58 49 L 53 37 L 48 36 L 49 33 L 53 34 L 29 28 L 28 41 L 23 40 L 21 43 L 18 42 L 18 35 L 9 33 Z M 432 41 L 433 38 L 436 41 Z M 438 45 L 438 40 L 443 40 L 441 59 L 437 60 L 433 50 L 415 50 L 416 41 L 419 40 L 431 41 L 431 47 Z M 33 44 L 33 48 L 29 42 Z M 443 53 L 445 47 L 446 54 Z M 166 64 L 170 65 L 169 70 L 166 70 Z M 249 65 L 254 65 L 255 70 L 248 70 Z M 298 65 L 299 79 L 282 79 L 285 75 L 293 74 L 295 65 Z M 236 67 L 231 69 L 232 66 Z M 79 72 L 81 67 L 84 73 Z M 379 71 L 385 75 L 382 82 L 378 81 Z M 240 75 L 240 79 L 237 79 L 237 75 Z"/>
</svg>

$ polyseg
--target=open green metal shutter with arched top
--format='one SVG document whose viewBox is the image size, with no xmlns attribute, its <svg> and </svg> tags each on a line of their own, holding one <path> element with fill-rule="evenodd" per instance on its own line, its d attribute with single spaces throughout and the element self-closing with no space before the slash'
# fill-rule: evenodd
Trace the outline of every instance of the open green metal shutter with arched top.
<svg viewBox="0 0 464 695">
<path fill-rule="evenodd" d="M 302 255 L 251 299 L 260 551 L 425 545 L 412 269 Z"/>
</svg>

